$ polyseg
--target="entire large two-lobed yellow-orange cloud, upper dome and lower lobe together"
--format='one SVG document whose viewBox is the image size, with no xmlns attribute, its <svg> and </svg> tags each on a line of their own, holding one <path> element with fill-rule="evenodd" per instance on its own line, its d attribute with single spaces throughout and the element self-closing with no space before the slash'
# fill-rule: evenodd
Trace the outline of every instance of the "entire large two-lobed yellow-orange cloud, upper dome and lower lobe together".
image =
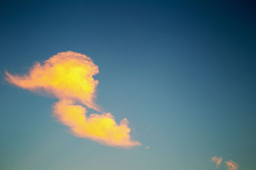
<svg viewBox="0 0 256 170">
<path fill-rule="evenodd" d="M 111 113 L 86 116 L 86 108 L 99 111 L 94 103 L 98 81 L 93 76 L 99 73 L 90 57 L 76 52 L 61 52 L 45 60 L 36 62 L 28 75 L 13 76 L 6 71 L 10 83 L 35 92 L 44 90 L 60 101 L 54 105 L 54 115 L 62 124 L 70 127 L 72 134 L 88 138 L 103 145 L 131 147 L 141 145 L 132 141 L 128 121 L 124 118 L 116 124 Z"/>
</svg>

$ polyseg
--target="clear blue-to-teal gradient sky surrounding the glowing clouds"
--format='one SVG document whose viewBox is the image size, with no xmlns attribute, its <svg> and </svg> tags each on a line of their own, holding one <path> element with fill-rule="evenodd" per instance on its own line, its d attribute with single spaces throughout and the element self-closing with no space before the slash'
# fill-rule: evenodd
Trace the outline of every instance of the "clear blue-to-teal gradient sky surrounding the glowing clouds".
<svg viewBox="0 0 256 170">
<path fill-rule="evenodd" d="M 1 1 L 0 169 L 255 169 L 254 9 L 249 1 Z M 28 75 L 68 51 L 99 67 L 100 110 L 80 103 L 86 115 L 127 118 L 140 145 L 76 136 L 54 116 L 63 96 L 6 80 L 6 71 Z"/>
</svg>

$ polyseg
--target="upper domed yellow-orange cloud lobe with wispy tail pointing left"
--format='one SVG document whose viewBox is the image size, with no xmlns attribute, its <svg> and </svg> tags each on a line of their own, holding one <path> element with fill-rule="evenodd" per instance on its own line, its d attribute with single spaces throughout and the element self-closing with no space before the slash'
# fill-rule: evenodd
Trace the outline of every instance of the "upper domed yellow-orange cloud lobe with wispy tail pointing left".
<svg viewBox="0 0 256 170">
<path fill-rule="evenodd" d="M 61 52 L 36 62 L 29 75 L 13 76 L 5 72 L 7 80 L 14 85 L 32 91 L 44 90 L 58 99 L 74 99 L 88 108 L 99 110 L 93 102 L 98 81 L 93 76 L 99 73 L 90 57 L 76 52 Z"/>
</svg>

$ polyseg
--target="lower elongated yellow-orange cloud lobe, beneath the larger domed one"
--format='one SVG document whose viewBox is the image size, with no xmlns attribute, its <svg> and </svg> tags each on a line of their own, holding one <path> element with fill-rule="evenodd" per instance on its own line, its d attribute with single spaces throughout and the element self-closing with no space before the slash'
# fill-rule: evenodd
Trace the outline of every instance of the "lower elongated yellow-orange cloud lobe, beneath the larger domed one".
<svg viewBox="0 0 256 170">
<path fill-rule="evenodd" d="M 102 115 L 91 114 L 86 116 L 86 108 L 74 104 L 73 101 L 62 99 L 54 106 L 54 114 L 58 120 L 68 125 L 74 136 L 89 138 L 109 146 L 129 147 L 140 145 L 137 141 L 131 141 L 126 118 L 117 125 L 110 113 Z"/>
</svg>

